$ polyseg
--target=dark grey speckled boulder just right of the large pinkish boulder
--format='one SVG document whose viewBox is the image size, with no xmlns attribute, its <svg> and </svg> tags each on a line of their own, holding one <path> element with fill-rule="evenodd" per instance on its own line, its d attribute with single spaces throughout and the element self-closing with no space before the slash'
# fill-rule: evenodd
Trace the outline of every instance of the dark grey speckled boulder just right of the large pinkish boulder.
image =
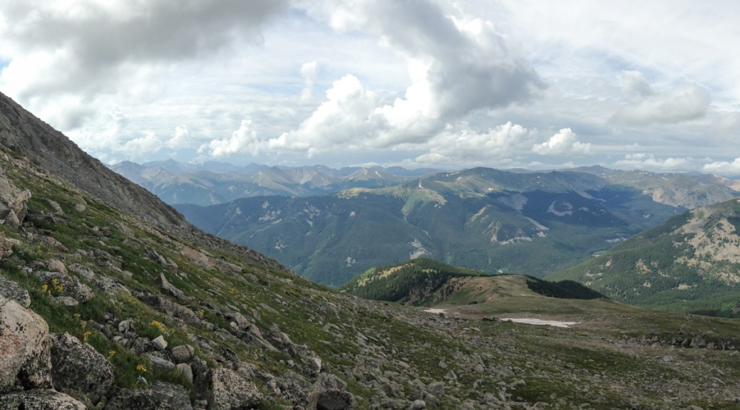
<svg viewBox="0 0 740 410">
<path fill-rule="evenodd" d="M 52 335 L 51 363 L 54 389 L 90 398 L 98 403 L 113 384 L 115 368 L 107 359 L 69 333 Z"/>
</svg>

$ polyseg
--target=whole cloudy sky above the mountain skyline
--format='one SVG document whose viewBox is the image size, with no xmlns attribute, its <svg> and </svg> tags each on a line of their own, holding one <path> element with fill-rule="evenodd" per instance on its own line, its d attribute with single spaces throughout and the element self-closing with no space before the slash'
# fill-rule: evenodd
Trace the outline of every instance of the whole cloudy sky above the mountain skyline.
<svg viewBox="0 0 740 410">
<path fill-rule="evenodd" d="M 740 175 L 740 2 L 4 0 L 0 92 L 104 163 Z"/>
</svg>

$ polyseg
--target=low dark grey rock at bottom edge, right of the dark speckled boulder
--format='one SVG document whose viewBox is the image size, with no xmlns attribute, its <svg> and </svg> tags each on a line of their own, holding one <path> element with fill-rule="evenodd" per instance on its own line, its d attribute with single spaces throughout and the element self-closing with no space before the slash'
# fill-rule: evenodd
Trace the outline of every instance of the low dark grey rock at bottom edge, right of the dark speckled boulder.
<svg viewBox="0 0 740 410">
<path fill-rule="evenodd" d="M 105 410 L 192 410 L 183 386 L 155 382 L 151 389 L 121 389 Z"/>
</svg>

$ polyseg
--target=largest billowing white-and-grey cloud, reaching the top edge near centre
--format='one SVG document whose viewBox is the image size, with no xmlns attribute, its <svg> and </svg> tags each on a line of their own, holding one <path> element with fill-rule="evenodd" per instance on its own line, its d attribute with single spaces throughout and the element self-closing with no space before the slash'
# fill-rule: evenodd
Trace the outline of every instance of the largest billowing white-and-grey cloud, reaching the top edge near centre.
<svg viewBox="0 0 740 410">
<path fill-rule="evenodd" d="M 406 58 L 410 85 L 383 103 L 354 75 L 327 92 L 327 100 L 295 131 L 270 148 L 390 148 L 425 143 L 478 110 L 533 98 L 544 87 L 510 42 L 481 19 L 448 16 L 431 1 L 306 2 L 335 30 L 362 30 Z M 338 145 L 341 144 L 341 145 Z"/>
</svg>

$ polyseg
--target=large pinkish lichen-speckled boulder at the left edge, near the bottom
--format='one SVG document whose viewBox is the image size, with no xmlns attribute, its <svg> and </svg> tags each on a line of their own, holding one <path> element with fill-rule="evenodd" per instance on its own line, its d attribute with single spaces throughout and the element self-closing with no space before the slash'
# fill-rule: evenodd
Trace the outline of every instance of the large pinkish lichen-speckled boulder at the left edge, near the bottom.
<svg viewBox="0 0 740 410">
<path fill-rule="evenodd" d="M 18 383 L 51 387 L 49 327 L 41 316 L 0 296 L 0 393 Z"/>
</svg>

